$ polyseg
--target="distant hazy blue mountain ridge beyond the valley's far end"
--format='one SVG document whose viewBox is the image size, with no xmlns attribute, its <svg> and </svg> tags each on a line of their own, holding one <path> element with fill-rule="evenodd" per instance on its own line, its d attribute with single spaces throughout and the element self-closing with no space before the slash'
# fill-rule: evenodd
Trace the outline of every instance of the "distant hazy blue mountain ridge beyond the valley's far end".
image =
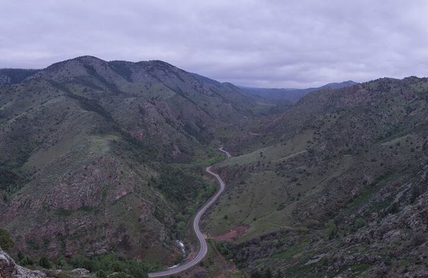
<svg viewBox="0 0 428 278">
<path fill-rule="evenodd" d="M 349 87 L 352 85 L 356 85 L 357 83 L 354 81 L 343 81 L 340 83 L 328 83 L 326 85 L 322 85 L 317 88 L 306 88 L 306 89 L 278 89 L 278 88 L 244 88 L 249 92 L 252 92 L 254 95 L 258 95 L 265 99 L 271 99 L 275 101 L 284 101 L 284 104 L 290 103 L 295 104 L 300 98 L 306 95 L 308 92 L 313 92 L 316 90 L 332 88 L 332 89 L 340 89 Z"/>
</svg>

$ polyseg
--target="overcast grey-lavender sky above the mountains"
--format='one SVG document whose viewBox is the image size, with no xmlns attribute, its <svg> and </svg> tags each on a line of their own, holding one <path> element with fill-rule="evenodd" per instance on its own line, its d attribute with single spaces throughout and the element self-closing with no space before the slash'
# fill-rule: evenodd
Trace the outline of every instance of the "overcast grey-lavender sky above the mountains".
<svg viewBox="0 0 428 278">
<path fill-rule="evenodd" d="M 0 0 L 0 67 L 83 55 L 258 87 L 428 76 L 428 1 Z"/>
</svg>

